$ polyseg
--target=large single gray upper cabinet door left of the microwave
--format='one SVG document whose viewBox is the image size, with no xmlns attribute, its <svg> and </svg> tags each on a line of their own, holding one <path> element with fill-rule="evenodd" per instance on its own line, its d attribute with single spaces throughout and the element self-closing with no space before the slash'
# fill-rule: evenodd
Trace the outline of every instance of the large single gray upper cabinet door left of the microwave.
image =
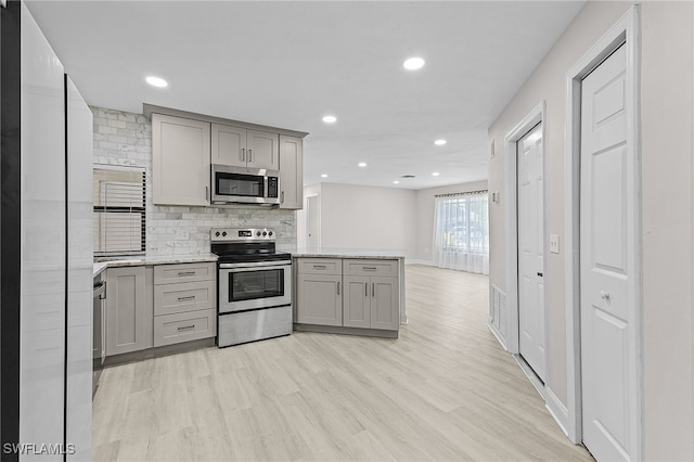
<svg viewBox="0 0 694 462">
<path fill-rule="evenodd" d="M 209 123 L 152 115 L 154 204 L 209 205 Z"/>
</svg>

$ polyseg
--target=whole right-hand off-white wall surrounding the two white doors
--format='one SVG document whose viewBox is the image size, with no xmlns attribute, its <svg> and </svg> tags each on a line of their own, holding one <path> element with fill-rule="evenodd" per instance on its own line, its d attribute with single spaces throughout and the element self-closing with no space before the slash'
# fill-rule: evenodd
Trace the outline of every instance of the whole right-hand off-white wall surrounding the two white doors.
<svg viewBox="0 0 694 462">
<path fill-rule="evenodd" d="M 565 73 L 629 9 L 630 2 L 588 2 L 528 81 L 489 128 L 497 155 L 489 190 L 490 282 L 505 290 L 505 134 L 547 101 L 547 233 L 564 229 Z M 694 459 L 693 61 L 694 4 L 642 3 L 642 231 L 644 447 L 646 460 Z M 561 239 L 561 242 L 563 240 Z M 545 259 L 547 385 L 567 399 L 564 248 Z"/>
</svg>

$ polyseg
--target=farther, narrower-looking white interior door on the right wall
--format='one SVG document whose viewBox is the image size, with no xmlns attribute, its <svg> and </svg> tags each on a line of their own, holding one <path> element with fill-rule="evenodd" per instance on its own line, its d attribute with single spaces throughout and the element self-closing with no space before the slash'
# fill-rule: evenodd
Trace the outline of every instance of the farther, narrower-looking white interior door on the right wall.
<svg viewBox="0 0 694 462">
<path fill-rule="evenodd" d="M 518 349 L 544 382 L 542 124 L 518 142 Z"/>
</svg>

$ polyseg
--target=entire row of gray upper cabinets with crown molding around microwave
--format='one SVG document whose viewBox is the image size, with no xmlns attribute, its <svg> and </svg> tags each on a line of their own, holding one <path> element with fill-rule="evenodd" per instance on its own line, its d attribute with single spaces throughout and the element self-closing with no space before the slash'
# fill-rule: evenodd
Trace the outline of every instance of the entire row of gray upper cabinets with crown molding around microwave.
<svg viewBox="0 0 694 462">
<path fill-rule="evenodd" d="M 143 105 L 152 119 L 155 205 L 210 205 L 210 164 L 280 171 L 280 208 L 304 207 L 308 133 Z"/>
</svg>

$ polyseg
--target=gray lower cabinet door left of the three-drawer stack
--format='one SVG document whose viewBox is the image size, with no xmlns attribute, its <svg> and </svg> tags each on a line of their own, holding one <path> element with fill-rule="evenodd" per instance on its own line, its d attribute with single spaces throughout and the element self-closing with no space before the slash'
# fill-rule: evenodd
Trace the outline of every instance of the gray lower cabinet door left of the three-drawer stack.
<svg viewBox="0 0 694 462">
<path fill-rule="evenodd" d="M 152 325 L 152 313 L 147 320 L 144 267 L 106 271 L 106 356 L 151 347 L 146 328 Z"/>
</svg>

